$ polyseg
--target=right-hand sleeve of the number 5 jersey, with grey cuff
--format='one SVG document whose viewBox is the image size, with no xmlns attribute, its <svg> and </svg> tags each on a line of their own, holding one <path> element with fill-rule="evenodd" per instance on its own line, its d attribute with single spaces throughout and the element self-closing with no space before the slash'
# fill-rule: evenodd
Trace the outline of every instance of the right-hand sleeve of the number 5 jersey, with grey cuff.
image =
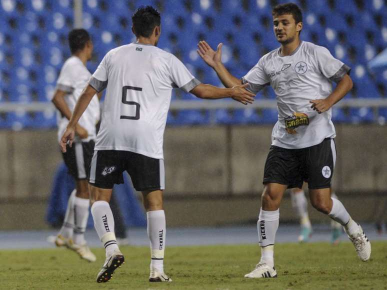
<svg viewBox="0 0 387 290">
<path fill-rule="evenodd" d="M 172 87 L 179 87 L 183 91 L 188 92 L 200 81 L 196 79 L 185 67 L 185 65 L 173 54 L 170 58 L 169 64 L 170 80 Z"/>
</svg>

